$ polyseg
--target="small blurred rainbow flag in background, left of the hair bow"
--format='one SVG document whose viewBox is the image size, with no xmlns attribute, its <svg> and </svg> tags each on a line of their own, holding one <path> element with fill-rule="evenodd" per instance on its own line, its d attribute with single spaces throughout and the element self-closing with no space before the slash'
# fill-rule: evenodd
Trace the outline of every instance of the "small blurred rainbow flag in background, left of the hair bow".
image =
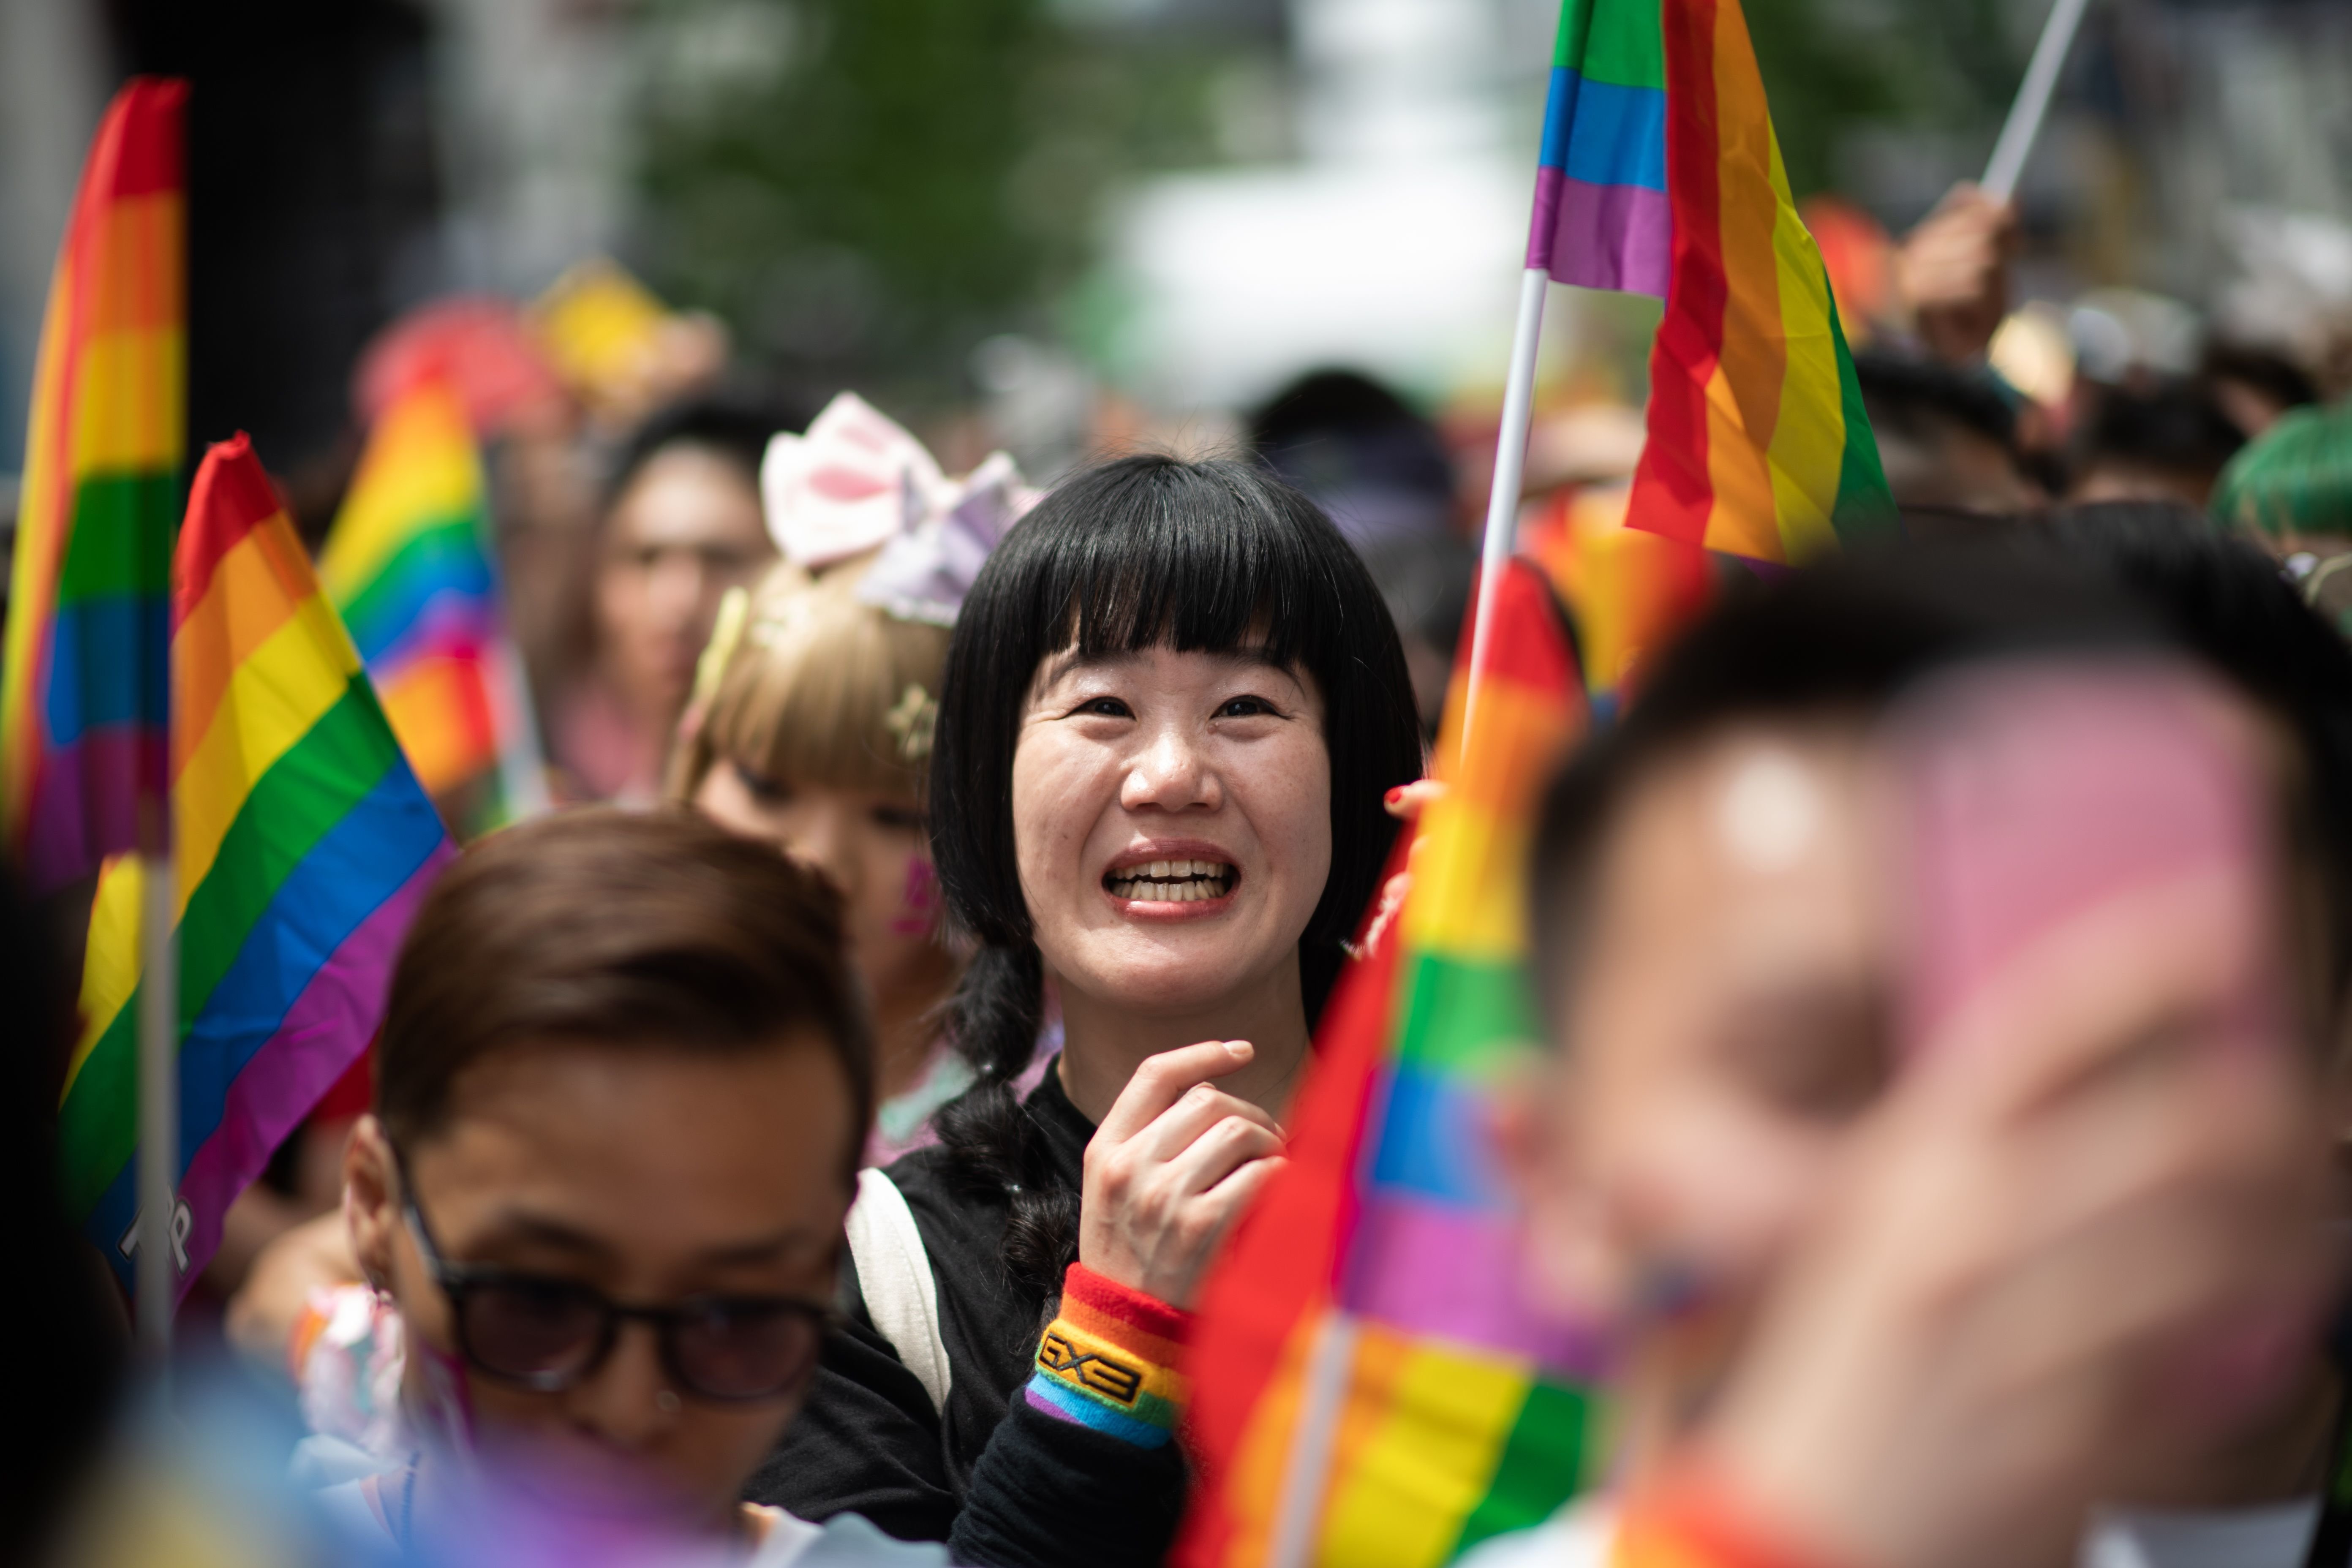
<svg viewBox="0 0 2352 1568">
<path fill-rule="evenodd" d="M 423 381 L 367 437 L 318 576 L 426 792 L 482 780 L 492 827 L 539 804 L 541 766 L 487 545 L 482 458 L 459 395 Z"/>
</svg>

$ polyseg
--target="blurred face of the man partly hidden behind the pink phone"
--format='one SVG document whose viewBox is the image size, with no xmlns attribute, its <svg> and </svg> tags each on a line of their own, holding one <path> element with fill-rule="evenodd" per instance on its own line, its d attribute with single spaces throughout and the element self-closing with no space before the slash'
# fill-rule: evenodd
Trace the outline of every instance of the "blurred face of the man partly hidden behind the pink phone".
<svg viewBox="0 0 2352 1568">
<path fill-rule="evenodd" d="M 1705 1413 L 1877 1152 L 1903 917 L 1886 820 L 1858 729 L 1724 729 L 1623 792 L 1581 940 L 1550 954 L 1564 1044 L 1536 1131 L 1510 1143 L 1541 1288 L 1618 1333 L 1635 1467 Z M 2147 1048 L 2209 1048 L 2206 1027 L 2176 1020 Z M 2317 1164 L 2319 1117 L 2296 1138 Z M 2260 1443 L 2272 1422 L 2300 1432 L 2303 1406 L 2232 1420 L 2227 1441 Z M 2206 1458 L 2190 1469 L 2213 1481 Z M 2131 1497 L 2190 1486 L 2166 1458 L 2124 1474 Z"/>
</svg>

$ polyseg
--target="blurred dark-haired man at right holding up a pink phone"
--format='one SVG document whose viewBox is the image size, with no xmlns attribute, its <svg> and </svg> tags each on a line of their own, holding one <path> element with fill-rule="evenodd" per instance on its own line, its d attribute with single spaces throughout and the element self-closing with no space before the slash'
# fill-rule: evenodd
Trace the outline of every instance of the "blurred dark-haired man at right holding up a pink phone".
<svg viewBox="0 0 2352 1568">
<path fill-rule="evenodd" d="M 1536 1274 L 1616 1331 L 1628 1488 L 1475 1563 L 2343 1561 L 2352 665 L 2260 562 L 2190 567 L 2138 604 L 2051 562 L 1806 574 L 1698 628 L 1559 783 L 1559 1056 L 1505 1145 Z M 2256 893 L 2110 900 L 1922 1032 L 1877 724 L 2027 654 L 2211 661 L 2263 780 Z"/>
</svg>

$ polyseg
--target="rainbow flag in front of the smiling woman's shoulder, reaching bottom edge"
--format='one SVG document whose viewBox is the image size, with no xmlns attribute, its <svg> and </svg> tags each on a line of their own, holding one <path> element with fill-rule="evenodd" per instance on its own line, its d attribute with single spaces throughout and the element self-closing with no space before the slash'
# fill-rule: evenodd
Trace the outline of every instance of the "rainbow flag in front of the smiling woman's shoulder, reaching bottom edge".
<svg viewBox="0 0 2352 1568">
<path fill-rule="evenodd" d="M 1392 865 L 1291 1117 L 1291 1168 L 1228 1241 L 1188 1371 L 1200 1488 L 1185 1568 L 1435 1568 L 1576 1490 L 1595 1347 L 1526 1307 L 1519 1218 L 1486 1140 L 1536 1048 L 1522 978 L 1536 797 L 1585 708 L 1552 595 L 1498 585 L 1475 750 L 1465 684 L 1442 802 Z"/>
</svg>

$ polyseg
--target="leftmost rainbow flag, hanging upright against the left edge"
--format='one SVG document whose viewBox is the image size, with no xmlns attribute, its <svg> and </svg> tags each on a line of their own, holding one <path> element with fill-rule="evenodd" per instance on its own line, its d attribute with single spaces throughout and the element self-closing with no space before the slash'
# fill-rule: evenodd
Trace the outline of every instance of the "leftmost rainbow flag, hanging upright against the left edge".
<svg viewBox="0 0 2352 1568">
<path fill-rule="evenodd" d="M 0 675 L 0 813 L 35 891 L 139 846 L 141 804 L 165 788 L 186 96 L 153 78 L 115 94 L 40 324 Z M 162 851 L 162 811 L 148 816 Z"/>
</svg>

